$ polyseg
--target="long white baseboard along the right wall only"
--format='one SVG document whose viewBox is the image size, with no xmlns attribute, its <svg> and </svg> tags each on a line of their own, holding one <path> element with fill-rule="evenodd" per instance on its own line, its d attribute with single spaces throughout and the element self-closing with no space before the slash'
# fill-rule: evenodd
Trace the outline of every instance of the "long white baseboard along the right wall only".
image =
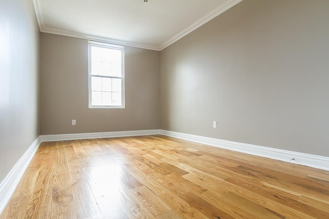
<svg viewBox="0 0 329 219">
<path fill-rule="evenodd" d="M 170 137 L 180 138 L 191 142 L 201 143 L 205 145 L 211 145 L 218 148 L 225 148 L 233 151 L 239 151 L 247 154 L 263 156 L 279 161 L 284 161 L 292 164 L 299 164 L 308 167 L 314 167 L 317 169 L 329 171 L 329 157 L 318 156 L 307 153 L 300 153 L 295 151 L 287 151 L 276 148 L 269 148 L 257 145 L 250 145 L 238 142 L 231 142 L 220 140 L 217 138 L 204 137 L 192 134 L 185 134 L 180 132 L 173 132 L 167 130 L 161 130 L 160 134 Z M 294 158 L 294 160 L 292 160 Z"/>
</svg>

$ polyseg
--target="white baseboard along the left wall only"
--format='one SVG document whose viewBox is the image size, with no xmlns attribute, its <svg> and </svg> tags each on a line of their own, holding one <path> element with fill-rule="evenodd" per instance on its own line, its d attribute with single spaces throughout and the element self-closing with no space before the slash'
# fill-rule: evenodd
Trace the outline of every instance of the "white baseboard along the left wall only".
<svg viewBox="0 0 329 219">
<path fill-rule="evenodd" d="M 20 160 L 11 169 L 8 175 L 0 184 L 0 214 L 5 209 L 11 195 L 14 193 L 17 185 L 19 184 L 27 166 L 32 160 L 35 151 L 40 145 L 40 136 L 34 140 L 32 145 L 23 154 Z"/>
</svg>

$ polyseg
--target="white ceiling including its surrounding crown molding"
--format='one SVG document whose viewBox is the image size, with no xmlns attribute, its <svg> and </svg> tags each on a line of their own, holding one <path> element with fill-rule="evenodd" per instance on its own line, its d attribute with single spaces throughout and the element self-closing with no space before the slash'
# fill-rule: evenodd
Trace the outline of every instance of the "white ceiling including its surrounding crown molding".
<svg viewBox="0 0 329 219">
<path fill-rule="evenodd" d="M 162 50 L 242 0 L 33 0 L 41 32 Z"/>
</svg>

